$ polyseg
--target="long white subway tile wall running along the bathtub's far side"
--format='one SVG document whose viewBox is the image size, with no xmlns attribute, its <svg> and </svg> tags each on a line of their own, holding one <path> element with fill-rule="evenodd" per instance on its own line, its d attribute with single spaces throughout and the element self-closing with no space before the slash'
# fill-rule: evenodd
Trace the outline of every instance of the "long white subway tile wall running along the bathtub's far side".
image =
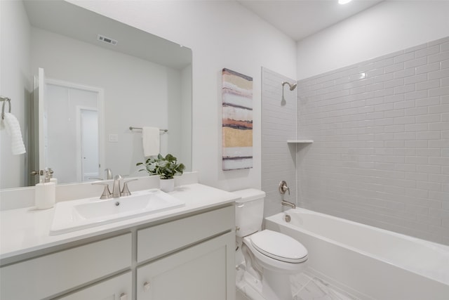
<svg viewBox="0 0 449 300">
<path fill-rule="evenodd" d="M 298 81 L 297 138 L 301 207 L 449 244 L 449 37 Z"/>
</svg>

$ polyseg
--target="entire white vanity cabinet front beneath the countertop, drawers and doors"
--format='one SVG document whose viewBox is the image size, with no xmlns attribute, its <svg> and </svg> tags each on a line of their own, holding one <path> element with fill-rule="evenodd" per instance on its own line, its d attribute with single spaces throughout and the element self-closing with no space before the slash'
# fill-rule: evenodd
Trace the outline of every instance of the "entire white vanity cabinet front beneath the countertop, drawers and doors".
<svg viewBox="0 0 449 300">
<path fill-rule="evenodd" d="M 1 300 L 234 300 L 234 204 L 64 245 L 0 268 Z"/>
</svg>

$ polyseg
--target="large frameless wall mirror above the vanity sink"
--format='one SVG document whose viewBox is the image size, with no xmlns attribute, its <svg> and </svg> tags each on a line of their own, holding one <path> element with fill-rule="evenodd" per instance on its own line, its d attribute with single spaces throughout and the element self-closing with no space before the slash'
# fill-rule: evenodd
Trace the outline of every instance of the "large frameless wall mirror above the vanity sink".
<svg viewBox="0 0 449 300">
<path fill-rule="evenodd" d="M 44 167 L 58 183 L 105 179 L 106 169 L 146 176 L 135 166 L 145 161 L 144 126 L 161 129 L 161 154 L 192 169 L 189 48 L 65 1 L 20 5 L 30 48 L 29 100 L 25 95 L 22 107 L 27 154 L 19 166 L 25 175 L 9 182 L 10 168 L 2 167 L 0 188 L 34 185 L 29 172 Z M 20 106 L 14 100 L 13 112 Z"/>
</svg>

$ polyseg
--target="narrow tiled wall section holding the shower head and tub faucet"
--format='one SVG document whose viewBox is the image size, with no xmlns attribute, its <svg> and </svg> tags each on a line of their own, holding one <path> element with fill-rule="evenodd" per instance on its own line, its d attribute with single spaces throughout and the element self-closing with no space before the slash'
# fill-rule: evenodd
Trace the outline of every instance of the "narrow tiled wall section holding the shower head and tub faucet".
<svg viewBox="0 0 449 300">
<path fill-rule="evenodd" d="M 262 190 L 265 197 L 264 216 L 281 211 L 283 199 L 296 202 L 296 148 L 287 140 L 296 138 L 296 90 L 282 82 L 295 80 L 262 67 Z M 290 195 L 281 195 L 281 181 L 287 181 Z M 284 198 L 283 198 L 284 197 Z"/>
</svg>

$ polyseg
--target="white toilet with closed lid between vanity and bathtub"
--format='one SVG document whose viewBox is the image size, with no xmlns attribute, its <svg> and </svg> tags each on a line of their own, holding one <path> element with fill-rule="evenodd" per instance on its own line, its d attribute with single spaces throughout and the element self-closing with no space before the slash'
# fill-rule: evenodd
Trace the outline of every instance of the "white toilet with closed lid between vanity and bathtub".
<svg viewBox="0 0 449 300">
<path fill-rule="evenodd" d="M 262 190 L 237 190 L 236 242 L 246 263 L 244 278 L 267 300 L 292 300 L 290 275 L 300 273 L 307 249 L 297 240 L 272 230 L 262 230 Z"/>
</svg>

